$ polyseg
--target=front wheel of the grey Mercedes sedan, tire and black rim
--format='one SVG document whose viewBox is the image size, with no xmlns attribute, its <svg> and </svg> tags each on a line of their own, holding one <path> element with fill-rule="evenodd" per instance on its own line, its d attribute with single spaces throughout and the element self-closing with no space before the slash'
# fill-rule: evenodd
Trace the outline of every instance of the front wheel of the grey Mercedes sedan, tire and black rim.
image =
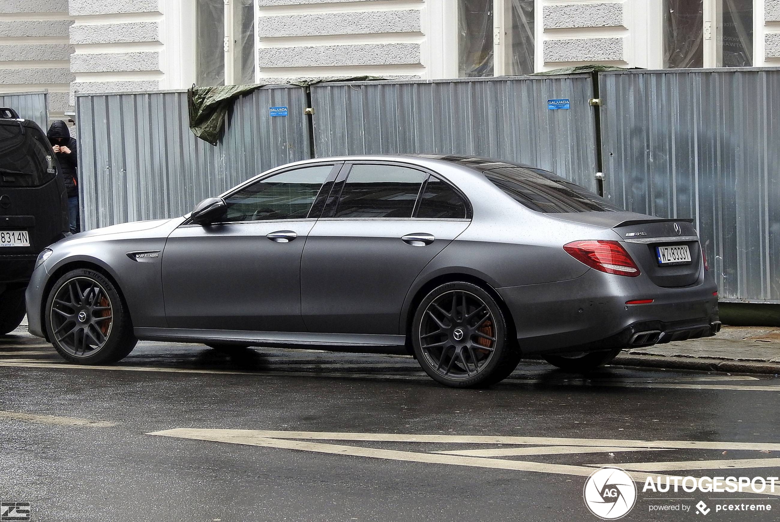
<svg viewBox="0 0 780 522">
<path fill-rule="evenodd" d="M 94 270 L 78 268 L 59 278 L 45 311 L 51 344 L 71 363 L 112 364 L 138 342 L 119 289 Z"/>
</svg>

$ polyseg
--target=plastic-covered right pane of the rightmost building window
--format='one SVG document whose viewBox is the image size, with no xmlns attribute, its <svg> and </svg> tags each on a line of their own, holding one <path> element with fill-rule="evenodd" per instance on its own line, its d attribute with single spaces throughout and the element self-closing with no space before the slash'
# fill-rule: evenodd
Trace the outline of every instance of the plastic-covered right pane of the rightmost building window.
<svg viewBox="0 0 780 522">
<path fill-rule="evenodd" d="M 718 3 L 718 66 L 753 66 L 753 0 Z"/>
</svg>

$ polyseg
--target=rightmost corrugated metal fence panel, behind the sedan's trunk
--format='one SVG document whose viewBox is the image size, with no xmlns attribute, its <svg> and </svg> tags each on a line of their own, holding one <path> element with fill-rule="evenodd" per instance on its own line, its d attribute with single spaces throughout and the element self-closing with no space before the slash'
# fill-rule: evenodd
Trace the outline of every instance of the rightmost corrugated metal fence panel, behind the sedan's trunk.
<svg viewBox="0 0 780 522">
<path fill-rule="evenodd" d="M 780 303 L 780 69 L 599 80 L 605 196 L 695 218 L 721 299 Z"/>
</svg>

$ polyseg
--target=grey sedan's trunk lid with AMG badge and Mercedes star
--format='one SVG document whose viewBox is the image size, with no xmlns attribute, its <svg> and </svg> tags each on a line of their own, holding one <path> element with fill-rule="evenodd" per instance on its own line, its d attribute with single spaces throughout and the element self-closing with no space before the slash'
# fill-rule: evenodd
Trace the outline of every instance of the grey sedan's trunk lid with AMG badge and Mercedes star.
<svg viewBox="0 0 780 522">
<path fill-rule="evenodd" d="M 564 221 L 601 226 L 612 229 L 619 236 L 623 247 L 639 265 L 641 272 L 658 286 L 675 288 L 691 286 L 699 282 L 704 264 L 701 247 L 693 220 L 656 218 L 634 212 L 574 212 L 548 214 Z M 590 238 L 584 238 L 590 239 Z M 661 265 L 658 247 L 686 246 L 690 251 L 690 263 Z"/>
</svg>

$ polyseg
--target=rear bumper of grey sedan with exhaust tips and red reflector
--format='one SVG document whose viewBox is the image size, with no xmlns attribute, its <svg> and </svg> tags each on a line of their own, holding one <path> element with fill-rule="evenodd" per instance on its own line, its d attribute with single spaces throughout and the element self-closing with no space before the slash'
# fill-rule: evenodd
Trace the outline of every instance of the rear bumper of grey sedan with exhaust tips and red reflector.
<svg viewBox="0 0 780 522">
<path fill-rule="evenodd" d="M 662 288 L 646 278 L 589 270 L 577 279 L 497 289 L 524 354 L 651 346 L 714 336 L 720 328 L 714 281 Z M 651 304 L 626 301 L 653 299 Z M 636 336 L 654 332 L 651 336 Z"/>
</svg>

